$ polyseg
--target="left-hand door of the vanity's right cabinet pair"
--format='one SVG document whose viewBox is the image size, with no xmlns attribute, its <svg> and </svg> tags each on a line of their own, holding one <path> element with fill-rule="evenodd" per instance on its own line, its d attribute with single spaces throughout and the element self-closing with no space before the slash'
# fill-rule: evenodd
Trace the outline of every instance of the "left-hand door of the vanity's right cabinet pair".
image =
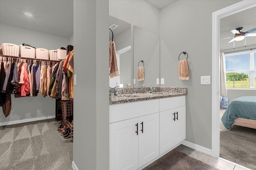
<svg viewBox="0 0 256 170">
<path fill-rule="evenodd" d="M 161 111 L 160 117 L 160 154 L 174 146 L 174 109 Z"/>
</svg>

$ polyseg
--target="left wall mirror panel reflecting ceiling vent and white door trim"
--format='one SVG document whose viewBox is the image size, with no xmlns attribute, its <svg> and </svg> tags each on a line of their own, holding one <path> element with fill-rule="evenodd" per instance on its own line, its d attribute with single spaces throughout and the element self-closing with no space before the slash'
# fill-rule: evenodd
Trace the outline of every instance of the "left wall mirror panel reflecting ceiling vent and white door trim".
<svg viewBox="0 0 256 170">
<path fill-rule="evenodd" d="M 109 86 L 128 87 L 131 84 L 131 24 L 109 16 L 109 27 L 112 25 L 113 41 L 116 46 L 119 76 L 110 78 Z M 112 41 L 112 32 L 109 30 L 109 41 Z"/>
</svg>

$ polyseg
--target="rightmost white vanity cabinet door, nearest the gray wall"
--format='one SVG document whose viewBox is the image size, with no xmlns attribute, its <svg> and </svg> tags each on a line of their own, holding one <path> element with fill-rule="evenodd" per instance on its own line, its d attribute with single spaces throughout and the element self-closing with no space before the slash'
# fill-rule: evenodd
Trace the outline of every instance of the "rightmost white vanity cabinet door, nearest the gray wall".
<svg viewBox="0 0 256 170">
<path fill-rule="evenodd" d="M 186 106 L 177 107 L 174 112 L 176 114 L 176 118 L 178 112 L 178 120 L 176 119 L 174 127 L 174 144 L 176 145 L 186 139 Z"/>
</svg>

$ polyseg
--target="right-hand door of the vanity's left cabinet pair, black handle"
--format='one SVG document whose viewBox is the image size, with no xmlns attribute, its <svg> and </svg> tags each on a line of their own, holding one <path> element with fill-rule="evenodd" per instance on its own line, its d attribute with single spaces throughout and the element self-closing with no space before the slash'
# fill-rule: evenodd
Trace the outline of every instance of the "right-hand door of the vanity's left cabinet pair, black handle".
<svg viewBox="0 0 256 170">
<path fill-rule="evenodd" d="M 159 113 L 138 118 L 139 167 L 159 156 Z M 143 129 L 142 129 L 143 122 Z M 142 133 L 143 130 L 143 133 Z"/>
</svg>

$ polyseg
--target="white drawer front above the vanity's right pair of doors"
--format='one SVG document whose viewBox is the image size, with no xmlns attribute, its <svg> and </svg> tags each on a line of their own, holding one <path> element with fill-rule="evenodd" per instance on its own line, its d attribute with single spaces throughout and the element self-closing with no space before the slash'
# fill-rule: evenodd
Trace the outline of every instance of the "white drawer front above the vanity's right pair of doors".
<svg viewBox="0 0 256 170">
<path fill-rule="evenodd" d="M 185 96 L 159 99 L 159 111 L 173 109 L 186 105 Z"/>
</svg>

